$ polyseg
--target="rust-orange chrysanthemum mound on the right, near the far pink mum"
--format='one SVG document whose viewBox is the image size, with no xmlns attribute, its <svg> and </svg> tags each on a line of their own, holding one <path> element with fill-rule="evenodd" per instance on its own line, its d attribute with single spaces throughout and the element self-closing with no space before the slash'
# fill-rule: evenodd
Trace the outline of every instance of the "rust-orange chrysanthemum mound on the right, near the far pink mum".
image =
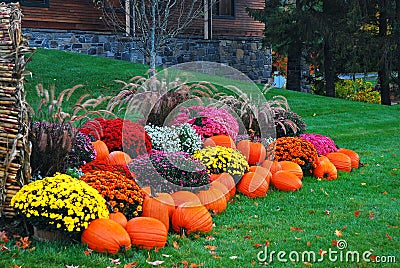
<svg viewBox="0 0 400 268">
<path fill-rule="evenodd" d="M 275 152 L 273 146 L 275 146 Z M 281 137 L 271 143 L 270 147 L 267 153 L 274 152 L 275 161 L 297 163 L 306 175 L 310 175 L 316 167 L 317 150 L 314 145 L 300 137 Z"/>
</svg>

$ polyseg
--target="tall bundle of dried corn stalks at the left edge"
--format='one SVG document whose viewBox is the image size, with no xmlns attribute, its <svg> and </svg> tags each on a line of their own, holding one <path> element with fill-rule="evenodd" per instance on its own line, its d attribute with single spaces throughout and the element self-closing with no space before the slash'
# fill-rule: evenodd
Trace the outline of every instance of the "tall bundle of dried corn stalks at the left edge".
<svg viewBox="0 0 400 268">
<path fill-rule="evenodd" d="M 18 4 L 0 4 L 0 217 L 12 218 L 11 198 L 29 181 L 30 145 L 24 94 L 25 55 Z"/>
</svg>

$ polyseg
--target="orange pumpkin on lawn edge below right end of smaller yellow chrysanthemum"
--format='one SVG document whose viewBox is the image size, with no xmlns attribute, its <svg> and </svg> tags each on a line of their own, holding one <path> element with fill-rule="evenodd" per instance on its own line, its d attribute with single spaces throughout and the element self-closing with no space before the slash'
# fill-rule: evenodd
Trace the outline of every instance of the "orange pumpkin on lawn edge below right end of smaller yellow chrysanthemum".
<svg viewBox="0 0 400 268">
<path fill-rule="evenodd" d="M 260 174 L 247 172 L 240 179 L 238 190 L 250 198 L 263 197 L 267 194 L 269 184 Z"/>
</svg>

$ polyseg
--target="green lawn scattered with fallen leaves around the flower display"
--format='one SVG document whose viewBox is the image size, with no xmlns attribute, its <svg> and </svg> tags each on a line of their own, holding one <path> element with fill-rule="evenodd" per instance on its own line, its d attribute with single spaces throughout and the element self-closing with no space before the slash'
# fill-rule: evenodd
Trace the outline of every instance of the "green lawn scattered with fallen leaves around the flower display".
<svg viewBox="0 0 400 268">
<path fill-rule="evenodd" d="M 64 67 L 63 67 L 64 66 Z M 86 90 L 115 92 L 114 79 L 127 80 L 145 74 L 146 68 L 132 63 L 94 58 L 57 51 L 39 51 L 28 65 L 33 73 L 26 88 L 37 83 L 55 84 L 65 89 L 83 83 Z M 55 79 L 55 80 L 54 80 Z M 234 81 L 232 81 L 234 83 Z M 351 173 L 340 172 L 336 181 L 303 179 L 303 188 L 294 193 L 274 191 L 266 197 L 249 199 L 237 194 L 226 211 L 215 216 L 210 234 L 181 238 L 170 234 L 165 248 L 155 251 L 131 249 L 125 254 L 84 254 L 85 247 L 70 242 L 33 241 L 35 250 L 18 250 L 14 239 L 9 250 L 0 255 L 0 267 L 113 267 L 109 258 L 120 259 L 118 267 L 137 264 L 152 267 L 146 261 L 164 261 L 163 267 L 259 267 L 257 255 L 264 257 L 264 245 L 271 251 L 315 252 L 337 248 L 343 239 L 349 251 L 360 253 L 360 262 L 329 261 L 312 263 L 314 267 L 369 267 L 362 253 L 395 256 L 397 263 L 379 264 L 398 267 L 400 262 L 400 106 L 358 103 L 298 92 L 273 89 L 267 97 L 285 96 L 293 111 L 301 115 L 310 133 L 330 136 L 340 147 L 356 150 L 363 167 Z M 28 102 L 34 98 L 28 92 Z M 356 215 L 356 212 L 359 215 Z M 338 235 L 342 236 L 338 236 Z M 268 241 L 268 242 L 267 242 Z M 175 246 L 174 246 L 175 243 Z M 178 247 L 179 246 L 179 247 Z M 215 246 L 215 248 L 213 248 Z M 214 250 L 215 249 L 215 250 Z M 332 257 L 340 257 L 333 254 Z M 280 262 L 274 255 L 273 267 L 304 267 L 310 263 Z M 196 266 L 194 266 L 196 267 Z"/>
</svg>

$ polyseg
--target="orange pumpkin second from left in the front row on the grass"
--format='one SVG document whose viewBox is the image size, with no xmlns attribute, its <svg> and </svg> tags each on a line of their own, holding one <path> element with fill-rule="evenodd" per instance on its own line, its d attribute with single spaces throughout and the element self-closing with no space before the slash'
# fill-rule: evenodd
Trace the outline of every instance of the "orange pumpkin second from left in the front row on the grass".
<svg viewBox="0 0 400 268">
<path fill-rule="evenodd" d="M 126 225 L 132 245 L 144 249 L 159 249 L 167 242 L 168 231 L 164 223 L 151 217 L 136 217 Z"/>
</svg>

